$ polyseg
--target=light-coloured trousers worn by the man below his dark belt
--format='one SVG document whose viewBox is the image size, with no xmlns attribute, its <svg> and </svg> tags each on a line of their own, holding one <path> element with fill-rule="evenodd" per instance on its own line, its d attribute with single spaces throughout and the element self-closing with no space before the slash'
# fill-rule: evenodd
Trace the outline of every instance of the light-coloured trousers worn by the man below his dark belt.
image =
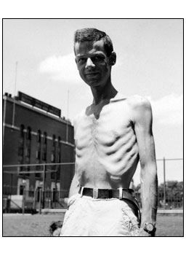
<svg viewBox="0 0 186 256">
<path fill-rule="evenodd" d="M 138 236 L 137 216 L 118 198 L 73 195 L 60 236 Z"/>
</svg>

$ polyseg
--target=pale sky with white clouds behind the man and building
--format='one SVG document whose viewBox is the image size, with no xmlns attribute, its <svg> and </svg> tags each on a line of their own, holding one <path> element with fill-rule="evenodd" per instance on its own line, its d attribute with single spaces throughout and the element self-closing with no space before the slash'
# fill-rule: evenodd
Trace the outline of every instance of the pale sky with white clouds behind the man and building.
<svg viewBox="0 0 186 256">
<path fill-rule="evenodd" d="M 92 102 L 89 86 L 78 76 L 73 34 L 98 28 L 110 36 L 117 55 L 114 87 L 125 96 L 150 99 L 156 158 L 182 158 L 182 26 L 181 19 L 4 20 L 3 93 L 14 96 L 20 90 L 60 108 L 73 122 Z M 161 183 L 163 162 L 157 164 Z M 182 181 L 182 160 L 166 161 L 166 179 Z M 134 184 L 139 182 L 140 166 L 134 175 Z"/>
</svg>

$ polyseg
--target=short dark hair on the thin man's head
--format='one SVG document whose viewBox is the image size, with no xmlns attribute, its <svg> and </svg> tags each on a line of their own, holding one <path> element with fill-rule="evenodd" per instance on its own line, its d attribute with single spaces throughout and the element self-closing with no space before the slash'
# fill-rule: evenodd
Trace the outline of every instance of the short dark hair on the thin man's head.
<svg viewBox="0 0 186 256">
<path fill-rule="evenodd" d="M 100 31 L 97 28 L 81 28 L 76 30 L 74 34 L 74 45 L 76 44 L 76 42 L 97 42 L 100 39 L 103 40 L 105 51 L 109 57 L 113 52 L 113 42 L 105 32 Z"/>
</svg>

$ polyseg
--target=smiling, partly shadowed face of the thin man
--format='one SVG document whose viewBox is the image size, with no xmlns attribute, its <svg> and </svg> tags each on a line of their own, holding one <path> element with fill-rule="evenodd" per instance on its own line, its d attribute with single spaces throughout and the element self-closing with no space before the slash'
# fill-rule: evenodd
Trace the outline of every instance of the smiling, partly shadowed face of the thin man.
<svg viewBox="0 0 186 256">
<path fill-rule="evenodd" d="M 110 58 L 102 40 L 75 44 L 76 64 L 81 78 L 91 86 L 104 87 L 110 78 Z"/>
</svg>

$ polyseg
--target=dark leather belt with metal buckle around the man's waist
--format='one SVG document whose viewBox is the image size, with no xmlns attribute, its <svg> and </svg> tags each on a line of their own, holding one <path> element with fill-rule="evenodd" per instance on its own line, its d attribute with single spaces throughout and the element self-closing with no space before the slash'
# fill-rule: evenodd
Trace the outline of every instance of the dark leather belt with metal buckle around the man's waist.
<svg viewBox="0 0 186 256">
<path fill-rule="evenodd" d="M 97 187 L 80 187 L 78 193 L 86 196 L 90 196 L 92 198 L 118 198 L 120 200 L 126 199 L 132 202 L 137 209 L 138 219 L 141 224 L 141 213 L 140 206 L 137 202 L 137 199 L 134 197 L 134 190 L 130 188 L 118 188 L 118 189 L 99 189 Z"/>
</svg>

